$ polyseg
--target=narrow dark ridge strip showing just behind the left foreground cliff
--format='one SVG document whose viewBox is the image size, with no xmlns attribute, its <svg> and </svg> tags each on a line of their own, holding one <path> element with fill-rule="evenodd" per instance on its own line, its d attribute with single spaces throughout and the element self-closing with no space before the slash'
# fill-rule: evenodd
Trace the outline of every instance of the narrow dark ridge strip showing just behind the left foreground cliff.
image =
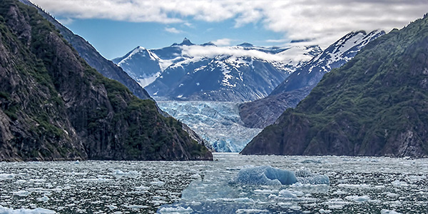
<svg viewBox="0 0 428 214">
<path fill-rule="evenodd" d="M 34 6 L 34 4 L 32 4 L 28 0 L 19 1 L 28 6 Z M 106 58 L 101 56 L 101 54 L 99 54 L 98 51 L 96 51 L 96 49 L 88 43 L 88 41 L 83 39 L 81 36 L 73 34 L 73 32 L 71 32 L 65 26 L 56 21 L 54 17 L 47 14 L 43 9 L 37 9 L 39 9 L 39 13 L 44 16 L 45 19 L 51 22 L 51 24 L 54 24 L 56 29 L 60 31 L 63 38 L 66 39 L 66 41 L 68 41 L 68 43 L 71 44 L 71 46 L 73 46 L 76 51 L 78 51 L 78 54 L 85 59 L 89 66 L 96 68 L 96 70 L 99 73 L 103 74 L 103 76 L 119 81 L 120 83 L 128 87 L 129 90 L 131 90 L 131 92 L 138 98 L 151 98 L 148 95 L 147 91 L 144 90 L 141 86 L 139 86 L 133 78 L 128 76 L 128 74 L 123 71 L 122 68 L 116 66 L 115 63 L 113 63 L 112 61 L 108 61 Z"/>
</svg>

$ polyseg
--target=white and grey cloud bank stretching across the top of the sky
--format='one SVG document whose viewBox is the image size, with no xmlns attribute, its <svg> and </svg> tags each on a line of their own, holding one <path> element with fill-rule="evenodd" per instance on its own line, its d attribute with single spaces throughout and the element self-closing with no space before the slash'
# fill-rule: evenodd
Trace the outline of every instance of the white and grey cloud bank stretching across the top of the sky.
<svg viewBox="0 0 428 214">
<path fill-rule="evenodd" d="M 327 46 L 350 31 L 402 28 L 428 11 L 428 0 L 32 0 L 70 19 L 133 22 L 218 22 L 235 27 L 260 23 L 287 39 Z M 255 32 L 257 33 L 257 32 Z"/>
</svg>

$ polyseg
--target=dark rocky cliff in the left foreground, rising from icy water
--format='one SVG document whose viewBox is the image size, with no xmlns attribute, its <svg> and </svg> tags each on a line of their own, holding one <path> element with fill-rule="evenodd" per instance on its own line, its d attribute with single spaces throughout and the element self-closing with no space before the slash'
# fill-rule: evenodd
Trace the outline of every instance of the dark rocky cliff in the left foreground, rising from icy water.
<svg viewBox="0 0 428 214">
<path fill-rule="evenodd" d="M 183 126 L 86 63 L 34 7 L 0 1 L 0 160 L 209 160 Z"/>
</svg>

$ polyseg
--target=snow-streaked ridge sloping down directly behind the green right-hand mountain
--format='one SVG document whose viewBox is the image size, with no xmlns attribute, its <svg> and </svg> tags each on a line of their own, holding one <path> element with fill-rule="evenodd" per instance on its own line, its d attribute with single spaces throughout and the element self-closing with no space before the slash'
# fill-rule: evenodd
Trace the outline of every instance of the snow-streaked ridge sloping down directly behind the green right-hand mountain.
<svg viewBox="0 0 428 214">
<path fill-rule="evenodd" d="M 240 106 L 240 117 L 245 126 L 265 128 L 274 123 L 285 109 L 297 106 L 325 73 L 344 65 L 370 41 L 382 35 L 384 31 L 372 31 L 369 34 L 355 31 L 343 36 L 304 66 L 297 68 L 269 96 L 243 103 Z"/>
</svg>

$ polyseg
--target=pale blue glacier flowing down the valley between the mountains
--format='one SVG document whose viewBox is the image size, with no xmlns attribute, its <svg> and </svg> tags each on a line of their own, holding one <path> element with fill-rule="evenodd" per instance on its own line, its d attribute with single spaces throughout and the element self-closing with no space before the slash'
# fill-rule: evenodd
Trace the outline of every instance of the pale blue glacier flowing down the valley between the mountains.
<svg viewBox="0 0 428 214">
<path fill-rule="evenodd" d="M 158 101 L 159 108 L 185 123 L 216 152 L 239 153 L 260 128 L 247 128 L 234 102 Z"/>
</svg>

